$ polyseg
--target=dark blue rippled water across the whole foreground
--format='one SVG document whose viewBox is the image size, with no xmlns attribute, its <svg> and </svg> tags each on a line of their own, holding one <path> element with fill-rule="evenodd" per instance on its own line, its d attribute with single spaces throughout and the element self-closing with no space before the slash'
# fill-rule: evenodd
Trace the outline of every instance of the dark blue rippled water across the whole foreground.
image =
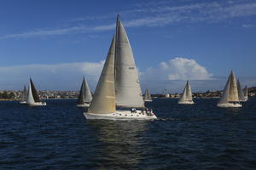
<svg viewBox="0 0 256 170">
<path fill-rule="evenodd" d="M 154 99 L 154 122 L 86 121 L 75 100 L 0 102 L 0 169 L 255 169 L 256 99 Z"/>
</svg>

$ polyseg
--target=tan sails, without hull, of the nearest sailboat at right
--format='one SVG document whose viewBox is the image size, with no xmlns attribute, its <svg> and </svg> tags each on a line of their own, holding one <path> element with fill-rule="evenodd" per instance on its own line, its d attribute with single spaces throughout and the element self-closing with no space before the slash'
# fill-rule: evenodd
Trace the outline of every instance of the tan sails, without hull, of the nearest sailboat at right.
<svg viewBox="0 0 256 170">
<path fill-rule="evenodd" d="M 218 104 L 226 104 L 229 102 L 239 102 L 236 77 L 233 71 L 230 73 L 230 77 L 226 82 L 223 95 L 219 99 Z"/>
</svg>

